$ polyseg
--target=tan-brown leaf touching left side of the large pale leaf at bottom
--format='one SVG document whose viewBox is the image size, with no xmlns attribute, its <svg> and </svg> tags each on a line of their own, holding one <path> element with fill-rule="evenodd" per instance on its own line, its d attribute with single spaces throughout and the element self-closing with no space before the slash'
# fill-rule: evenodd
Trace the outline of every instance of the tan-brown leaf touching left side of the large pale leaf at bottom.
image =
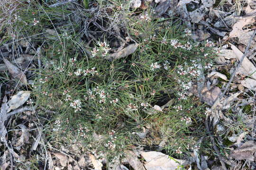
<svg viewBox="0 0 256 170">
<path fill-rule="evenodd" d="M 146 170 L 134 152 L 125 151 L 125 153 L 126 153 L 125 161 L 128 162 L 134 170 Z"/>
</svg>

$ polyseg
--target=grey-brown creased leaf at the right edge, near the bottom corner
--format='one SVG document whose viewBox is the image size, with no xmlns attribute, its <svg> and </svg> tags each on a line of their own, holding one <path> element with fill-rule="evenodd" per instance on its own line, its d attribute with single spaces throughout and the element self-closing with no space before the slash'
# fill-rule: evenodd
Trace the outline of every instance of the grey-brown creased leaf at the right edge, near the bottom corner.
<svg viewBox="0 0 256 170">
<path fill-rule="evenodd" d="M 254 153 L 256 152 L 256 142 L 247 141 L 242 146 L 231 151 L 228 158 L 234 158 L 236 160 L 248 160 L 254 161 Z"/>
</svg>

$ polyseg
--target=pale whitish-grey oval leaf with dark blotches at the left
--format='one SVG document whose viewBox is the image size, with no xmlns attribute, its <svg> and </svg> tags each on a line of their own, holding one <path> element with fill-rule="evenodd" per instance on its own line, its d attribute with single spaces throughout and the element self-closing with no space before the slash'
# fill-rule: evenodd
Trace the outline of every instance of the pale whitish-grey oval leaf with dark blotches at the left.
<svg viewBox="0 0 256 170">
<path fill-rule="evenodd" d="M 8 110 L 9 112 L 12 109 L 17 109 L 19 106 L 24 104 L 30 96 L 30 91 L 19 91 L 17 94 L 11 96 L 11 99 L 8 101 Z"/>
</svg>

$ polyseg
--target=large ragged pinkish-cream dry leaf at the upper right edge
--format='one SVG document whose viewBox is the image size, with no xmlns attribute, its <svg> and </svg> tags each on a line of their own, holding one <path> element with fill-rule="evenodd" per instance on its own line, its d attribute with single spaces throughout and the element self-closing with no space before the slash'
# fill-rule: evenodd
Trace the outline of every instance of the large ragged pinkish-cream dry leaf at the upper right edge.
<svg viewBox="0 0 256 170">
<path fill-rule="evenodd" d="M 256 12 L 256 9 L 252 11 L 251 13 Z M 250 15 L 250 13 L 247 13 L 247 15 Z M 243 27 L 252 24 L 255 22 L 255 15 L 242 17 L 238 20 L 236 24 L 233 26 L 233 30 L 229 34 L 229 38 L 235 38 L 240 37 L 242 34 L 245 34 L 246 32 L 250 31 L 249 29 L 243 30 Z"/>
</svg>

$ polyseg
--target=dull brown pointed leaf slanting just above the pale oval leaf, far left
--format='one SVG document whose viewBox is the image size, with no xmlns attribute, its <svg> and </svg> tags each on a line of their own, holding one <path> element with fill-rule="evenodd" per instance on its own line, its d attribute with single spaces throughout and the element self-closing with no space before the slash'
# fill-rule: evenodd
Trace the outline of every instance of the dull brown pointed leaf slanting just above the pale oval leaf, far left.
<svg viewBox="0 0 256 170">
<path fill-rule="evenodd" d="M 6 67 L 8 68 L 11 76 L 17 80 L 20 80 L 20 82 L 24 83 L 25 85 L 27 85 L 26 75 L 20 69 L 18 69 L 15 65 L 11 64 L 11 62 L 8 59 L 3 58 L 3 61 Z"/>
</svg>

